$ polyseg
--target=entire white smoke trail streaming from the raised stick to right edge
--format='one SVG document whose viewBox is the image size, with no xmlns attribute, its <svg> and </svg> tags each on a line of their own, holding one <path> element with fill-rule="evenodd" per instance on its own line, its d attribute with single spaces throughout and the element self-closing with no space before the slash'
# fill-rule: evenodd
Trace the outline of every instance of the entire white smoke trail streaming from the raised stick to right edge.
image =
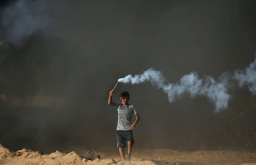
<svg viewBox="0 0 256 165">
<path fill-rule="evenodd" d="M 246 68 L 245 71 L 237 70 L 234 73 L 240 86 L 247 85 L 249 90 L 255 95 L 256 92 L 256 60 Z M 232 78 L 228 73 L 222 74 L 217 80 L 212 77 L 199 78 L 197 73 L 190 73 L 181 77 L 177 83 L 165 83 L 165 79 L 161 71 L 152 68 L 144 71 L 141 75 L 127 75 L 124 78 L 119 78 L 118 82 L 138 84 L 143 82 L 151 82 L 153 86 L 160 88 L 168 95 L 170 103 L 176 100 L 179 96 L 187 92 L 191 98 L 196 95 L 206 96 L 210 102 L 214 104 L 215 112 L 221 109 L 228 108 L 230 94 L 228 92 Z"/>
</svg>

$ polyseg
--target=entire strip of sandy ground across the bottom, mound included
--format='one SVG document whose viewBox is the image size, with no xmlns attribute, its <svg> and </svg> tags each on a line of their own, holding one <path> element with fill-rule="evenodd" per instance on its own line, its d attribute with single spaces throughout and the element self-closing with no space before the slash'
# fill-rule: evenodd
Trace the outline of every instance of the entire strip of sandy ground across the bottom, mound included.
<svg viewBox="0 0 256 165">
<path fill-rule="evenodd" d="M 26 149 L 11 152 L 0 145 L 0 164 L 256 164 L 256 153 L 253 151 L 136 149 L 131 161 L 125 163 L 120 161 L 118 151 L 100 150 L 93 155 L 92 151 L 79 150 L 77 153 L 56 151 L 40 154 Z"/>
</svg>

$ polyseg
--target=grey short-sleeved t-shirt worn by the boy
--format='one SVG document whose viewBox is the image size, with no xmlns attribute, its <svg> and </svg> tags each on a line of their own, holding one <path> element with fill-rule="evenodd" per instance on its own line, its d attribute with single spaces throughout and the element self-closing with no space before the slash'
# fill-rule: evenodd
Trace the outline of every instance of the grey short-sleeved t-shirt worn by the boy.
<svg viewBox="0 0 256 165">
<path fill-rule="evenodd" d="M 137 112 L 133 105 L 123 105 L 122 103 L 115 103 L 115 108 L 118 111 L 117 130 L 130 130 L 131 117 Z"/>
</svg>

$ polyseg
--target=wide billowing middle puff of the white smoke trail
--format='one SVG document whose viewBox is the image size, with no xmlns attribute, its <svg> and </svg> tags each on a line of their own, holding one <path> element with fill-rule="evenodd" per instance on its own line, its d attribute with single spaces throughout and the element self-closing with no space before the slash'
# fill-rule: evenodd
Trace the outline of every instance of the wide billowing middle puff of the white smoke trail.
<svg viewBox="0 0 256 165">
<path fill-rule="evenodd" d="M 203 79 L 199 78 L 197 73 L 190 73 L 181 77 L 180 82 L 176 84 L 169 83 L 163 87 L 167 93 L 170 103 L 184 92 L 188 92 L 191 98 L 196 95 L 204 95 L 214 104 L 215 111 L 228 108 L 230 95 L 228 94 L 228 75 L 222 74 L 218 82 L 212 77 Z"/>
</svg>

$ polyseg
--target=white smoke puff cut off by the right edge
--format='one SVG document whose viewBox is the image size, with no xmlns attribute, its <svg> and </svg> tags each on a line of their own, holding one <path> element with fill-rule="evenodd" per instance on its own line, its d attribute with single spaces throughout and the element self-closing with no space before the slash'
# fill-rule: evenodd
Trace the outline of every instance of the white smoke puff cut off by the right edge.
<svg viewBox="0 0 256 165">
<path fill-rule="evenodd" d="M 238 81 L 240 87 L 246 85 L 256 95 L 256 58 L 244 71 L 236 70 L 234 79 Z"/>
</svg>

